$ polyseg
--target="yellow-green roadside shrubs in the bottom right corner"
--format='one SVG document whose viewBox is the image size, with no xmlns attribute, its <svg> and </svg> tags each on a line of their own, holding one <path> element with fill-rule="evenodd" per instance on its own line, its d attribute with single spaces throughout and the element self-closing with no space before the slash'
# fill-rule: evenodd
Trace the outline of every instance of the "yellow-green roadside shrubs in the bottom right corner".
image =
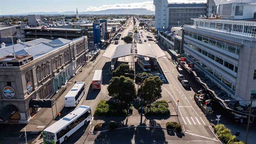
<svg viewBox="0 0 256 144">
<path fill-rule="evenodd" d="M 244 142 L 236 139 L 235 135 L 231 134 L 231 131 L 223 124 L 215 125 L 214 131 L 217 133 L 218 138 L 227 144 L 244 144 Z"/>
</svg>

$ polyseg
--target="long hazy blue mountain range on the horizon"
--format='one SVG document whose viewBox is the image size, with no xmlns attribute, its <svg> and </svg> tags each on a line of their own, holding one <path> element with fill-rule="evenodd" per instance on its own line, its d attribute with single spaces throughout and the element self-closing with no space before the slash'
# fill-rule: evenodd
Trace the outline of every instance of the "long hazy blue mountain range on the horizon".
<svg viewBox="0 0 256 144">
<path fill-rule="evenodd" d="M 66 12 L 30 12 L 30 13 L 19 13 L 12 15 L 28 15 L 28 14 L 76 14 L 75 11 Z M 88 12 L 78 12 L 78 14 L 155 14 L 155 11 L 149 11 L 147 9 L 108 9 L 102 11 L 88 11 Z"/>
</svg>

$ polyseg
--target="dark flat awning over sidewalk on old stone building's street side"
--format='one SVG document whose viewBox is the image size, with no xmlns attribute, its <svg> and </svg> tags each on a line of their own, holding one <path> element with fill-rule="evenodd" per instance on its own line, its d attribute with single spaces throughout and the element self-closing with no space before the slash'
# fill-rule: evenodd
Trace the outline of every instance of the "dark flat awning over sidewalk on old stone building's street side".
<svg viewBox="0 0 256 144">
<path fill-rule="evenodd" d="M 55 99 L 31 99 L 29 107 L 32 108 L 51 108 L 55 104 Z"/>
</svg>

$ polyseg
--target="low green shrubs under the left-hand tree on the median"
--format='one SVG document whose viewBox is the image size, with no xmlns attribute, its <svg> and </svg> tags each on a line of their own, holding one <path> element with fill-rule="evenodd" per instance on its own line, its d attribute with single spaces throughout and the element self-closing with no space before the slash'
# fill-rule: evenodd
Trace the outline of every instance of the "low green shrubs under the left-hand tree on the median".
<svg viewBox="0 0 256 144">
<path fill-rule="evenodd" d="M 118 103 L 106 100 L 101 100 L 94 112 L 94 116 L 126 116 L 127 114 L 127 109 L 122 108 Z"/>
</svg>

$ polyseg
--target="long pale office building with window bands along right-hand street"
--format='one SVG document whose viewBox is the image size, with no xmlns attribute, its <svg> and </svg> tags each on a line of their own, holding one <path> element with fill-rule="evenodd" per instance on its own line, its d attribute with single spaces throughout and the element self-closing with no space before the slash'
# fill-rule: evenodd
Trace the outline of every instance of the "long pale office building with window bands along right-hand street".
<svg viewBox="0 0 256 144">
<path fill-rule="evenodd" d="M 183 26 L 185 57 L 225 90 L 227 97 L 247 101 L 253 95 L 255 107 L 256 5 L 219 7 L 220 15 L 233 19 L 196 18 L 193 26 Z"/>
</svg>

